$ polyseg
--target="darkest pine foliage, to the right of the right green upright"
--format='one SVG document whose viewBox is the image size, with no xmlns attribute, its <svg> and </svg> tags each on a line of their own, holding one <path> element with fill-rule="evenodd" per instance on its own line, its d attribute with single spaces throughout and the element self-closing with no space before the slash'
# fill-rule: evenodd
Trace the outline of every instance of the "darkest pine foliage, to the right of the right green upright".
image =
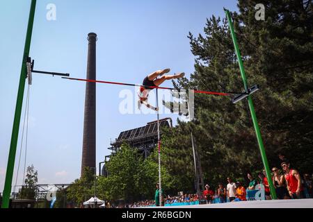
<svg viewBox="0 0 313 222">
<path fill-rule="evenodd" d="M 294 167 L 312 172 L 313 3 L 263 3 L 264 22 L 252 19 L 255 1 L 239 1 L 240 14 L 234 17 L 249 57 L 250 83 L 263 80 L 255 103 L 266 147 L 272 162 L 273 151 L 282 151 Z"/>
</svg>

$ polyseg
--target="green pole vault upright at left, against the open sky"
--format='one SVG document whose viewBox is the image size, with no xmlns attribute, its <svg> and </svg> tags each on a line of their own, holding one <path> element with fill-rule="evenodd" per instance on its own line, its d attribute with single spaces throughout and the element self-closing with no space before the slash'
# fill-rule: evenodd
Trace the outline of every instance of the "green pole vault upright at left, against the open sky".
<svg viewBox="0 0 313 222">
<path fill-rule="evenodd" d="M 29 12 L 29 24 L 27 26 L 24 54 L 22 60 L 21 76 L 19 77 L 19 89 L 17 92 L 17 101 L 15 106 L 14 123 L 10 143 L 10 152 L 8 155 L 8 167 L 6 168 L 6 182 L 3 189 L 2 208 L 8 208 L 10 203 L 10 193 L 12 188 L 12 178 L 15 164 L 15 154 L 17 139 L 19 136 L 19 122 L 21 120 L 25 81 L 26 81 L 26 62 L 31 48 L 31 33 L 33 31 L 33 18 L 35 17 L 36 0 L 31 0 L 31 10 Z"/>
</svg>

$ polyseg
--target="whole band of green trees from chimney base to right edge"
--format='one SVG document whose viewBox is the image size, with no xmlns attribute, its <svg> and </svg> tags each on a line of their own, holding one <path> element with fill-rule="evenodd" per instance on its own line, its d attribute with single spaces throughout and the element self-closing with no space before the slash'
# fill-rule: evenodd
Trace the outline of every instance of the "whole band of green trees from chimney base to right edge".
<svg viewBox="0 0 313 222">
<path fill-rule="evenodd" d="M 265 6 L 264 21 L 255 19 L 257 3 Z M 252 97 L 270 167 L 280 167 L 281 152 L 301 173 L 313 171 L 312 7 L 312 1 L 304 0 L 239 0 L 239 12 L 232 13 L 248 84 L 261 88 Z M 225 18 L 210 17 L 204 34 L 189 33 L 188 38 L 195 71 L 190 80 L 173 82 L 175 87 L 243 92 Z M 234 105 L 230 99 L 195 94 L 195 119 L 178 121 L 175 128 L 163 130 L 162 188 L 169 194 L 195 191 L 191 132 L 204 182 L 211 187 L 226 183 L 227 176 L 243 180 L 247 171 L 255 175 L 263 169 L 248 103 L 243 100 Z M 154 198 L 159 180 L 157 148 L 143 160 L 136 149 L 124 144 L 106 169 L 109 176 L 97 182 L 100 198 L 125 202 Z M 70 187 L 72 199 L 81 203 L 91 187 Z"/>
</svg>

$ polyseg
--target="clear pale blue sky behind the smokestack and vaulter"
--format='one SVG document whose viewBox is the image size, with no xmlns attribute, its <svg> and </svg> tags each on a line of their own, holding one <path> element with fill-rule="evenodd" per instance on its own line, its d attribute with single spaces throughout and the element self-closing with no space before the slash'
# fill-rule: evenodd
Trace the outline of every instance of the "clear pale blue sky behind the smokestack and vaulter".
<svg viewBox="0 0 313 222">
<path fill-rule="evenodd" d="M 0 8 L 0 191 L 8 161 L 30 3 L 4 1 Z M 55 21 L 46 18 L 49 3 L 56 6 Z M 188 32 L 203 33 L 208 17 L 224 17 L 223 7 L 236 10 L 236 1 L 40 0 L 30 56 L 35 59 L 35 69 L 86 78 L 87 35 L 95 32 L 99 80 L 142 83 L 147 74 L 167 67 L 172 72 L 186 72 L 188 78 L 194 71 Z M 172 83 L 163 86 L 171 87 Z M 38 170 L 40 183 L 70 183 L 79 178 L 85 87 L 83 82 L 57 76 L 33 76 L 26 165 L 33 164 Z M 118 137 L 122 130 L 145 126 L 156 119 L 155 114 L 121 114 L 119 94 L 123 89 L 134 92 L 132 87 L 97 85 L 97 162 L 109 155 L 110 139 Z M 25 101 L 26 91 L 21 129 Z M 176 122 L 177 114 L 161 114 L 163 117 L 172 117 Z M 21 138 L 22 130 L 15 175 Z M 17 181 L 20 184 L 22 170 Z"/>
</svg>

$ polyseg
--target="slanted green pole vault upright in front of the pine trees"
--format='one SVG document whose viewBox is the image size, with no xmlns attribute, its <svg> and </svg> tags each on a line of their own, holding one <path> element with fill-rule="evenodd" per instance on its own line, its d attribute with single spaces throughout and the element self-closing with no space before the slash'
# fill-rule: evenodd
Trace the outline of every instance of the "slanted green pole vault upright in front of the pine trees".
<svg viewBox="0 0 313 222">
<path fill-rule="evenodd" d="M 242 62 L 242 59 L 241 59 L 239 46 L 237 44 L 236 35 L 234 33 L 234 24 L 232 23 L 232 18 L 230 17 L 230 11 L 229 10 L 225 10 L 225 13 L 226 13 L 226 17 L 227 17 L 227 20 L 228 20 L 228 24 L 230 25 L 230 32 L 232 33 L 232 41 L 234 42 L 234 48 L 235 48 L 237 59 L 238 59 L 238 62 L 239 62 L 239 68 L 240 68 L 240 72 L 241 72 L 241 77 L 243 79 L 243 85 L 245 87 L 246 92 L 248 92 L 247 78 L 246 78 L 246 74 L 245 74 L 245 69 L 243 68 L 243 62 Z M 266 178 L 268 179 L 268 185 L 269 185 L 270 190 L 271 190 L 271 196 L 275 200 L 275 199 L 277 199 L 276 198 L 275 187 L 274 187 L 273 181 L 271 179 L 271 171 L 270 171 L 270 169 L 268 167 L 268 161 L 267 161 L 267 157 L 266 157 L 266 153 L 265 153 L 265 149 L 264 149 L 264 144 L 263 144 L 263 141 L 262 141 L 262 135 L 261 135 L 261 132 L 259 130 L 259 124 L 257 123 L 257 115 L 255 114 L 255 107 L 253 105 L 251 95 L 248 96 L 248 103 L 249 103 L 250 113 L 251 113 L 251 116 L 252 116 L 253 126 L 255 127 L 255 133 L 257 135 L 257 142 L 259 144 L 259 151 L 261 152 L 262 161 L 263 161 L 263 164 L 264 164 L 264 169 L 266 171 Z"/>
</svg>

